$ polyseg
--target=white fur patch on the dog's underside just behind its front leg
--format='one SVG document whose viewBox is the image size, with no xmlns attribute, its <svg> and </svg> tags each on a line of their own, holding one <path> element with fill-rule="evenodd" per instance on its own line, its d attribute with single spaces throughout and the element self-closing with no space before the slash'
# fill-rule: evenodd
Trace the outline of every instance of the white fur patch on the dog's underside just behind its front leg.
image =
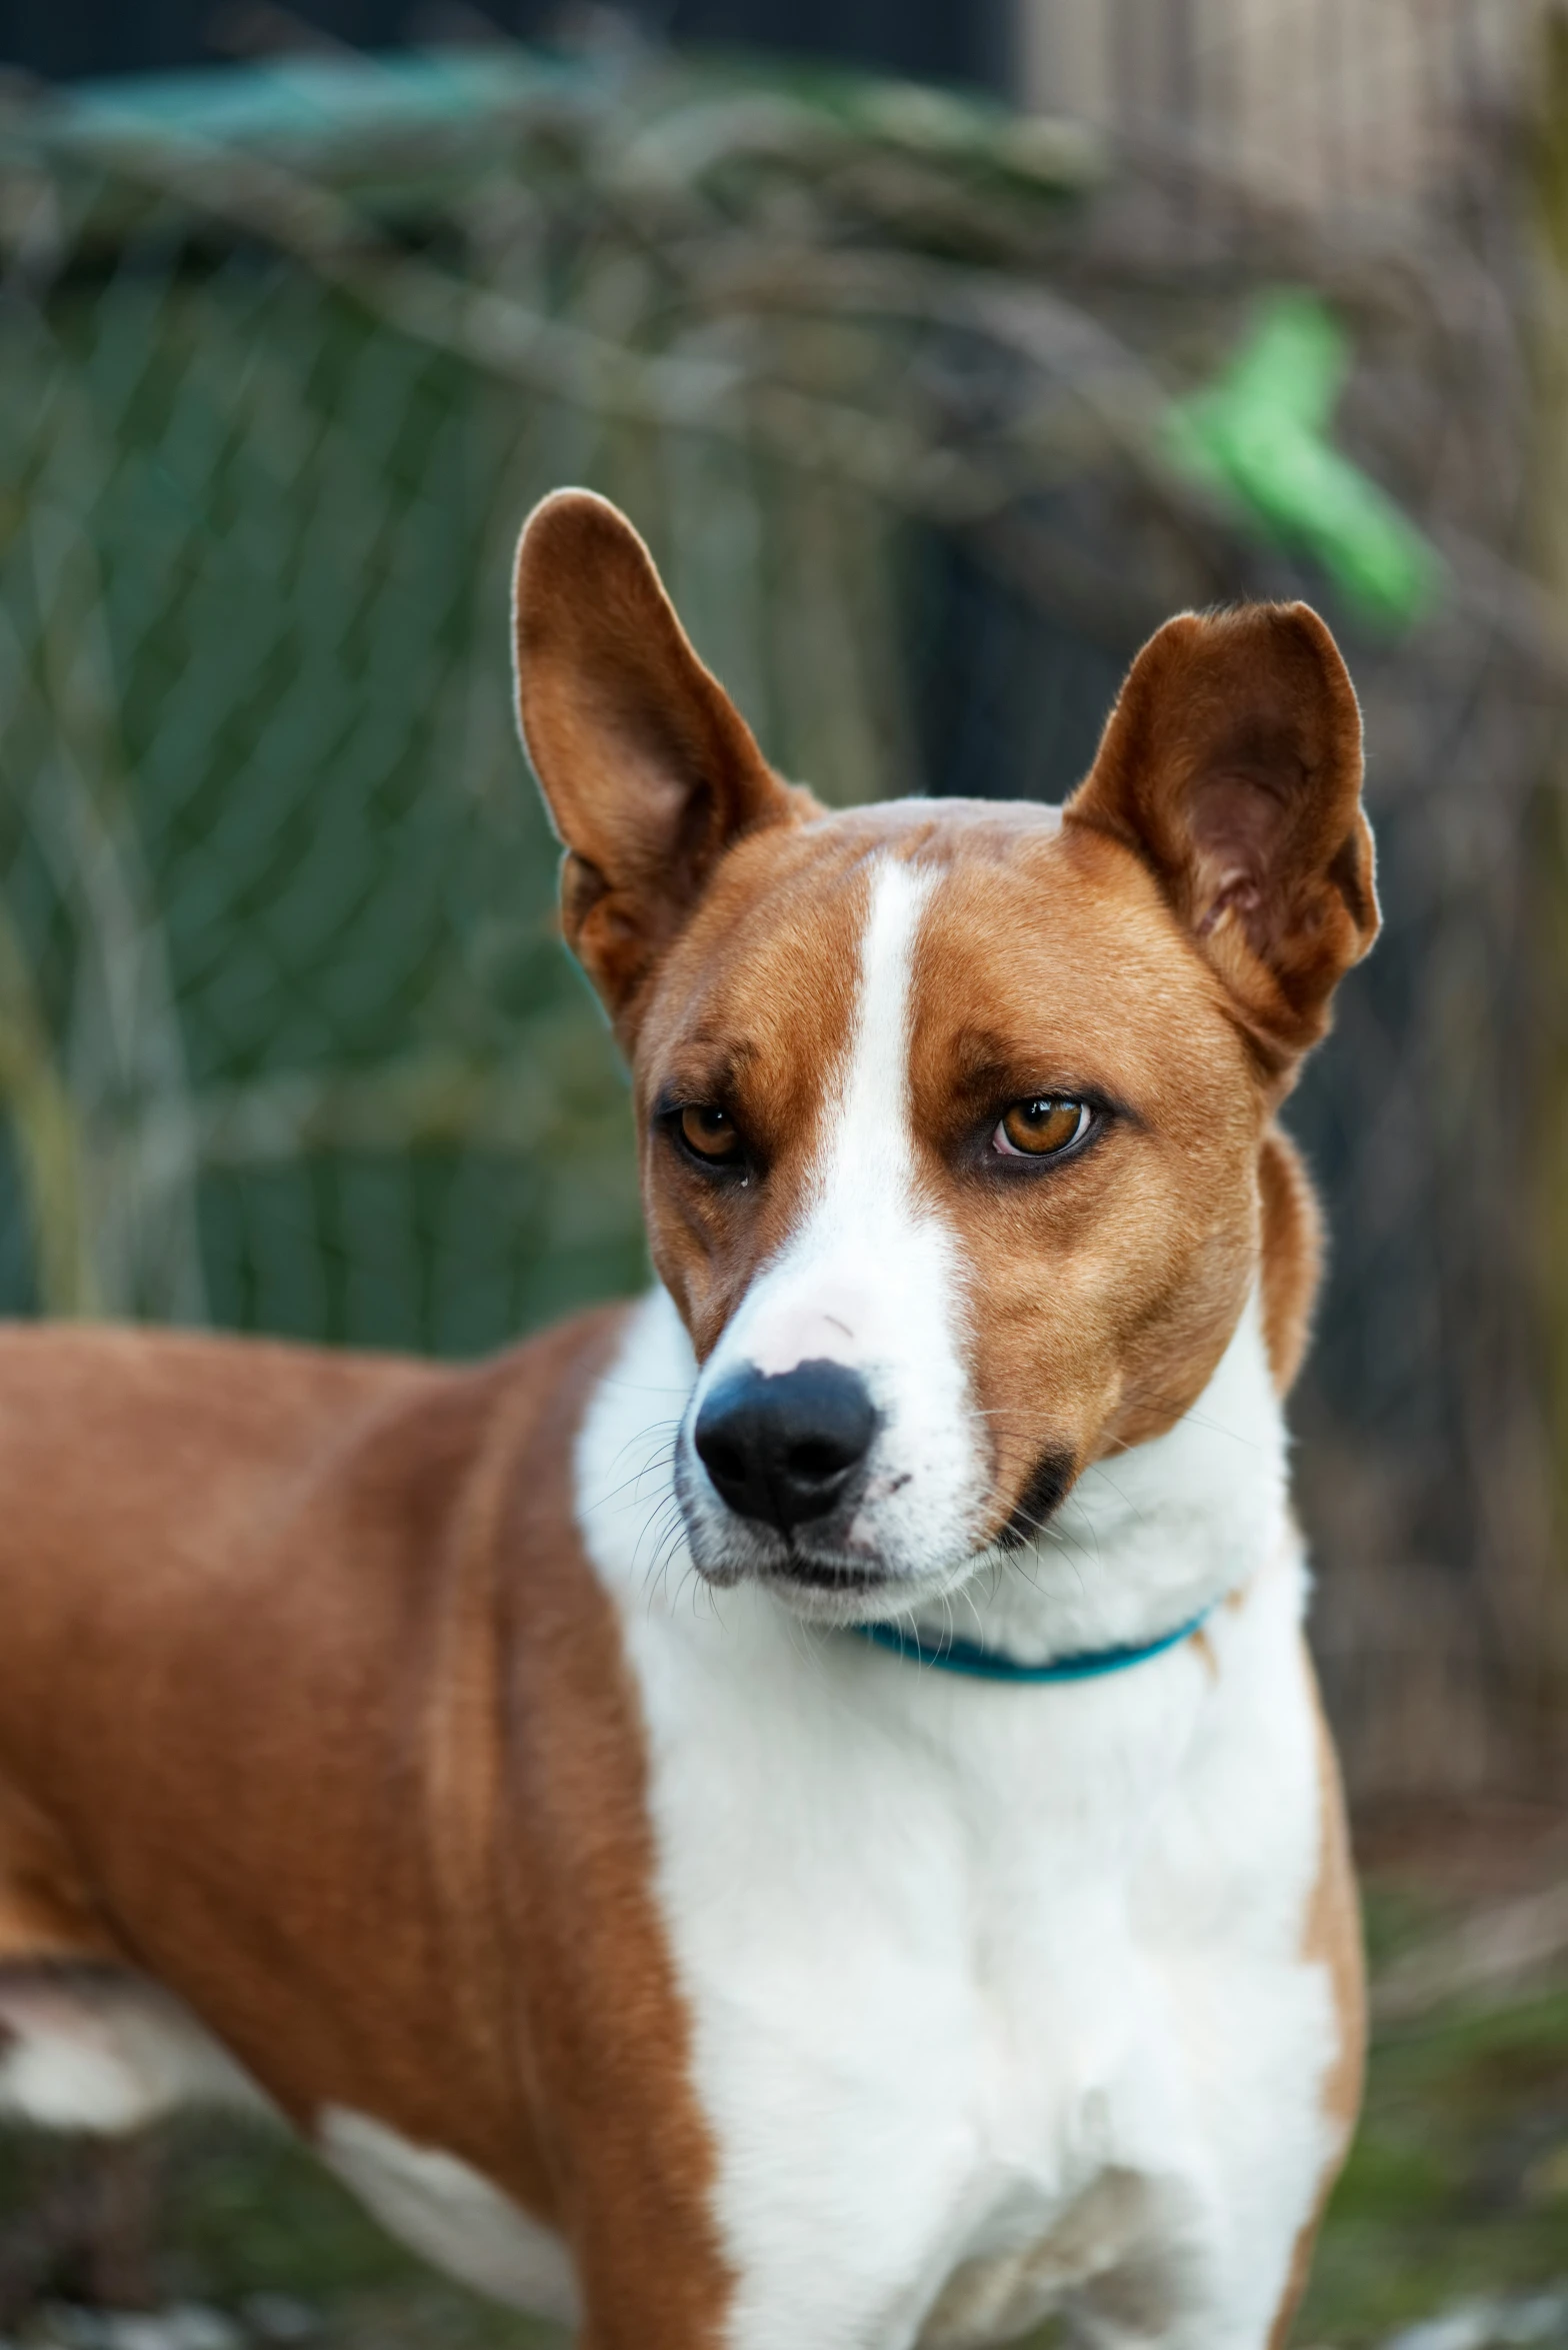
<svg viewBox="0 0 1568 2350">
<path fill-rule="evenodd" d="M 467 2162 L 411 2146 L 385 2122 L 343 2106 L 319 2117 L 317 2146 L 376 2218 L 427 2261 L 495 2301 L 563 2324 L 577 2317 L 577 2284 L 561 2237 Z"/>
</svg>

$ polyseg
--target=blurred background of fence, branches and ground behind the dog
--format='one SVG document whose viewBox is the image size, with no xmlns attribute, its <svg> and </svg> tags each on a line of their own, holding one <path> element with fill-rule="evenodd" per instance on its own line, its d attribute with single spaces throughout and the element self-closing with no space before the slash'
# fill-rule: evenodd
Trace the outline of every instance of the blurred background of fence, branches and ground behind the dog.
<svg viewBox="0 0 1568 2350">
<path fill-rule="evenodd" d="M 1338 630 L 1293 1419 L 1380 2042 L 1298 2341 L 1568 2343 L 1568 16 L 0 0 L 2 1311 L 469 1356 L 643 1278 L 509 714 L 559 482 L 840 804 L 1061 797 L 1178 606 Z M 204 2124 L 0 2141 L 7 2326 L 547 2338 Z"/>
</svg>

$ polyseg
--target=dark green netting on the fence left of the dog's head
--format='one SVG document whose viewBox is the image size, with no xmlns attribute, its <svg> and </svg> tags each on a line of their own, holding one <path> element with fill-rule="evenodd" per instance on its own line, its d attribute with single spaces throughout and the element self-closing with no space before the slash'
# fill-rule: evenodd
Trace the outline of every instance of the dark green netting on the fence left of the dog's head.
<svg viewBox="0 0 1568 2350">
<path fill-rule="evenodd" d="M 0 327 L 12 1307 L 472 1349 L 638 1264 L 507 717 L 516 402 L 268 254 Z"/>
</svg>

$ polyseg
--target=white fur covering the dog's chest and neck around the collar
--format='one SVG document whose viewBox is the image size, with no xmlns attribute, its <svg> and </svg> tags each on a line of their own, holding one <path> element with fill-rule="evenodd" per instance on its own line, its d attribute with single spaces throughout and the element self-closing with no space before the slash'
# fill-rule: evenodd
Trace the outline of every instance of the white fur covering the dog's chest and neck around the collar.
<svg viewBox="0 0 1568 2350">
<path fill-rule="evenodd" d="M 1258 2350 L 1331 2153 L 1336 2021 L 1300 1958 L 1322 1791 L 1256 1321 L 1178 1429 L 1080 1488 L 1077 1572 L 1115 1605 L 1054 1558 L 991 1603 L 1049 1652 L 1246 1584 L 1214 1666 L 1188 1643 L 1066 1687 L 932 1673 L 685 1558 L 650 1577 L 636 1469 L 690 1379 L 655 1295 L 577 1485 L 648 1720 L 735 2350 L 960 2350 L 1052 2308 L 1094 2343 Z"/>
</svg>

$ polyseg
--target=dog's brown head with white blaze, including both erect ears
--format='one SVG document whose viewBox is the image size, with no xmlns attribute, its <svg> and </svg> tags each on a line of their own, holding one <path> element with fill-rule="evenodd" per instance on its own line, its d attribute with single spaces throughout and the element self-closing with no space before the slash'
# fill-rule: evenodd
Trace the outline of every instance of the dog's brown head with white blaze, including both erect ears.
<svg viewBox="0 0 1568 2350">
<path fill-rule="evenodd" d="M 1197 1401 L 1258 1281 L 1289 1382 L 1314 1224 L 1270 1121 L 1378 928 L 1307 606 L 1162 627 L 1063 811 L 826 813 L 580 491 L 523 531 L 516 658 L 702 1365 L 711 1582 L 831 1622 L 953 1589 Z"/>
</svg>

